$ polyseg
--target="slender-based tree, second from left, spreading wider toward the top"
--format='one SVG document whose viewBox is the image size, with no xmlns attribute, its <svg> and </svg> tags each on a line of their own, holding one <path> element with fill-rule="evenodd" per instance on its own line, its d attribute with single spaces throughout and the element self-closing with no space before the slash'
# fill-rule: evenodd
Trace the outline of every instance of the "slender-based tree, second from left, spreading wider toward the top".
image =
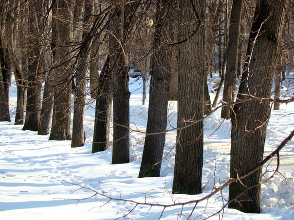
<svg viewBox="0 0 294 220">
<path fill-rule="evenodd" d="M 27 2 L 26 2 L 27 3 Z M 4 10 L 6 18 L 1 21 L 2 40 L 5 41 L 5 50 L 7 51 L 7 69 L 14 72 L 17 83 L 17 107 L 15 113 L 15 124 L 23 124 L 24 107 L 26 100 L 26 75 L 27 75 L 27 57 L 24 55 L 23 44 L 24 36 L 27 34 L 27 14 L 26 4 L 20 4 L 20 1 L 1 1 L 1 9 Z M 11 9 L 14 10 L 11 10 Z M 6 11 L 5 11 L 6 10 Z M 5 25 L 2 25 L 5 23 Z M 5 34 L 5 36 L 4 36 Z M 5 40 L 4 40 L 5 37 Z M 3 43 L 2 42 L 2 43 Z"/>
</svg>

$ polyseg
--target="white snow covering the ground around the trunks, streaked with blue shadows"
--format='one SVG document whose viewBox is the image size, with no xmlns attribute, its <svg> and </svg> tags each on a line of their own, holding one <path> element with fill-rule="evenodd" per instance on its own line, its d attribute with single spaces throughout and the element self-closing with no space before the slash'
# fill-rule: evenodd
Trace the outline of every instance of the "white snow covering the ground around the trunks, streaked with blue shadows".
<svg viewBox="0 0 294 220">
<path fill-rule="evenodd" d="M 217 74 L 208 78 L 213 91 Z M 88 100 L 85 115 L 86 144 L 71 148 L 70 141 L 48 141 L 49 135 L 22 131 L 22 126 L 0 122 L 0 219 L 1 220 L 112 220 L 126 219 L 177 220 L 187 219 L 195 203 L 166 207 L 138 203 L 173 204 L 198 200 L 209 195 L 229 177 L 230 121 L 220 119 L 220 110 L 204 121 L 204 161 L 202 194 L 172 195 L 175 160 L 177 102 L 169 102 L 168 130 L 161 177 L 137 178 L 144 146 L 147 124 L 147 102 L 142 105 L 142 79 L 130 79 L 130 163 L 111 165 L 112 147 L 92 154 L 95 103 Z M 286 74 L 282 93 L 293 95 L 294 74 Z M 148 93 L 147 88 L 147 93 Z M 10 89 L 10 111 L 14 117 L 16 85 Z M 211 92 L 211 100 L 215 92 Z M 265 154 L 294 128 L 294 103 L 281 105 L 272 111 Z M 110 132 L 111 133 L 111 132 Z M 112 133 L 110 134 L 112 140 Z M 195 207 L 191 220 L 272 220 L 294 219 L 294 141 L 280 152 L 281 167 L 269 182 L 262 184 L 261 214 L 245 214 L 224 207 L 228 188 Z M 264 179 L 276 168 L 276 158 L 264 167 Z M 105 197 L 105 196 L 107 197 Z M 113 198 L 113 199 L 110 199 Z M 123 200 L 121 200 L 123 199 Z M 128 201 L 124 201 L 128 200 Z M 129 213 L 129 214 L 128 214 Z M 161 216 L 162 215 L 162 216 Z"/>
</svg>

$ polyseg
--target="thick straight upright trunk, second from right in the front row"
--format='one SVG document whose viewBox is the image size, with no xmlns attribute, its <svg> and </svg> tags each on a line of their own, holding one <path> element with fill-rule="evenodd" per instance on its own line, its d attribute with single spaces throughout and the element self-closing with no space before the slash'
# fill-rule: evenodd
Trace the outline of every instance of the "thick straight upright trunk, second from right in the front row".
<svg viewBox="0 0 294 220">
<path fill-rule="evenodd" d="M 205 0 L 179 1 L 178 131 L 172 192 L 202 192 Z"/>
</svg>

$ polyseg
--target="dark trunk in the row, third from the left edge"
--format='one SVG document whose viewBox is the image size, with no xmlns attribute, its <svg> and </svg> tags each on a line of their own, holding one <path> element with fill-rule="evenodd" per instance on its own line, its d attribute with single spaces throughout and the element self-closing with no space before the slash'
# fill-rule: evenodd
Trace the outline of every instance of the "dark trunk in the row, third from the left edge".
<svg viewBox="0 0 294 220">
<path fill-rule="evenodd" d="M 28 35 L 28 89 L 26 115 L 22 130 L 37 131 L 41 109 L 41 44 L 39 24 L 42 19 L 42 1 L 31 0 L 29 3 L 29 35 Z"/>
</svg>

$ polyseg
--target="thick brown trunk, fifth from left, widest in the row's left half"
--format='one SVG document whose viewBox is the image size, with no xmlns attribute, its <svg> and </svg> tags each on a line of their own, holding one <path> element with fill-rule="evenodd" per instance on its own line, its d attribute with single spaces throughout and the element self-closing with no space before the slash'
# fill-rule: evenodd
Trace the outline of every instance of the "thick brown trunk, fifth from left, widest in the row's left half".
<svg viewBox="0 0 294 220">
<path fill-rule="evenodd" d="M 52 128 L 49 140 L 71 139 L 71 89 L 72 80 L 69 72 L 70 61 L 70 1 L 56 0 L 56 30 L 52 30 L 55 40 L 55 58 L 58 66 L 54 76 L 54 104 Z M 54 27 L 54 26 L 53 26 Z"/>
</svg>

